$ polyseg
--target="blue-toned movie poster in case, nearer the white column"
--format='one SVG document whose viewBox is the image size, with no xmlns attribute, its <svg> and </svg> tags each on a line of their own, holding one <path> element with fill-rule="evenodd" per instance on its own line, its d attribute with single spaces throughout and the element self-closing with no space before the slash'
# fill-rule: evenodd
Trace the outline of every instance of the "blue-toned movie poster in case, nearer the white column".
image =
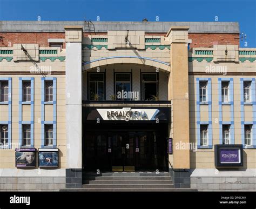
<svg viewBox="0 0 256 209">
<path fill-rule="evenodd" d="M 58 167 L 58 149 L 57 151 L 42 151 L 39 149 L 39 167 Z M 52 149 L 56 150 L 56 149 Z"/>
</svg>

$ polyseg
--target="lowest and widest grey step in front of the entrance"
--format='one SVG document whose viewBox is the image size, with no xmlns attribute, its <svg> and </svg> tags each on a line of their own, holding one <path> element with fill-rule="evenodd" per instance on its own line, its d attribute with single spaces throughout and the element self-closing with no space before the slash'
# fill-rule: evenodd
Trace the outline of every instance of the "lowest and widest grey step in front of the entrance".
<svg viewBox="0 0 256 209">
<path fill-rule="evenodd" d="M 197 192 L 192 188 L 63 188 L 60 192 Z"/>
</svg>

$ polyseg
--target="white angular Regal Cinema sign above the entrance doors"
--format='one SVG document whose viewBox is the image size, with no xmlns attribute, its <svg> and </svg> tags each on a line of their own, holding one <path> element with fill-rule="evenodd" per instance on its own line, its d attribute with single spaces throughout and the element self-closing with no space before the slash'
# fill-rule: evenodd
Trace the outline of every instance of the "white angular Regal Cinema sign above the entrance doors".
<svg viewBox="0 0 256 209">
<path fill-rule="evenodd" d="M 156 120 L 158 109 L 97 109 L 104 120 Z"/>
</svg>

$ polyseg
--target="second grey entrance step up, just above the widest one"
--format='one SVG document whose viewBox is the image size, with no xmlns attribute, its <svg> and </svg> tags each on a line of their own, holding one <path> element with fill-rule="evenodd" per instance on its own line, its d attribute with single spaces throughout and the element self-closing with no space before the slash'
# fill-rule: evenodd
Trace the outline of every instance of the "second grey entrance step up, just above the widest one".
<svg viewBox="0 0 256 209">
<path fill-rule="evenodd" d="M 83 188 L 173 188 L 173 184 L 84 184 Z"/>
</svg>

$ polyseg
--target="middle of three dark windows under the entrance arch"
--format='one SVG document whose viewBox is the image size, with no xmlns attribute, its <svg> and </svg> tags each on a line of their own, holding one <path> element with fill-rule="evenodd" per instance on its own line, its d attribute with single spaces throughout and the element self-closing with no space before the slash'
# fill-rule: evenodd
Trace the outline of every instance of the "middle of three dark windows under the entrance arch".
<svg viewBox="0 0 256 209">
<path fill-rule="evenodd" d="M 129 92 L 131 91 L 131 73 L 116 73 L 115 79 L 117 100 L 131 100 L 131 98 L 128 96 L 125 97 L 125 95 L 130 95 Z"/>
</svg>

